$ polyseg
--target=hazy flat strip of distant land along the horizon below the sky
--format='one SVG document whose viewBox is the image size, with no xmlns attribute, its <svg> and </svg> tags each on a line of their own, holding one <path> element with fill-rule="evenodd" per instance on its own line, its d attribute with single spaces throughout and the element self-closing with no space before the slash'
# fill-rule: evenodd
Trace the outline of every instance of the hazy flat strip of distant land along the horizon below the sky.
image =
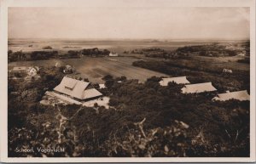
<svg viewBox="0 0 256 164">
<path fill-rule="evenodd" d="M 178 47 L 208 44 L 212 41 L 157 41 L 157 40 L 82 40 L 82 39 L 9 39 L 9 49 L 24 52 L 42 50 L 50 46 L 55 50 L 82 48 L 106 48 L 118 53 L 135 48 L 165 48 L 173 50 Z"/>
</svg>

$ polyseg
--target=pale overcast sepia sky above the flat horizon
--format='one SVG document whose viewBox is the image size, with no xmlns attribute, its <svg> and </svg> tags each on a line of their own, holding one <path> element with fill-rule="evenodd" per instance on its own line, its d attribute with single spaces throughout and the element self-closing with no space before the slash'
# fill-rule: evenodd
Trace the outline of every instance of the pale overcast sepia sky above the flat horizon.
<svg viewBox="0 0 256 164">
<path fill-rule="evenodd" d="M 9 8 L 12 38 L 236 39 L 249 24 L 249 8 Z"/>
</svg>

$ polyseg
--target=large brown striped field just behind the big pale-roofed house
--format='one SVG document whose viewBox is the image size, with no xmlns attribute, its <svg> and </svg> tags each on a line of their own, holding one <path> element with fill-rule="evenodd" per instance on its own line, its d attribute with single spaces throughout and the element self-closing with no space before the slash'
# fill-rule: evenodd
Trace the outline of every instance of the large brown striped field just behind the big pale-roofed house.
<svg viewBox="0 0 256 164">
<path fill-rule="evenodd" d="M 90 82 L 101 83 L 103 82 L 102 77 L 106 75 L 126 76 L 127 79 L 138 79 L 139 82 L 145 82 L 151 76 L 167 76 L 163 73 L 132 66 L 132 62 L 137 60 L 135 58 L 115 59 L 117 60 L 84 57 L 82 59 L 62 59 L 61 61 L 67 65 L 74 65 L 76 70 L 81 73 L 79 76 L 88 78 Z"/>
</svg>

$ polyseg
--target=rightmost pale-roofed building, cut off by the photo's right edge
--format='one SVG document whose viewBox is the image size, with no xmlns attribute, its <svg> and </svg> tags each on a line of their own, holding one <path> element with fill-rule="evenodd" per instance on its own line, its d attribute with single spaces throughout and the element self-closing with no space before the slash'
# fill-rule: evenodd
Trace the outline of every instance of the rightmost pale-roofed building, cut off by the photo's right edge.
<svg viewBox="0 0 256 164">
<path fill-rule="evenodd" d="M 250 95 L 247 93 L 247 90 L 236 91 L 236 92 L 228 92 L 228 93 L 220 93 L 212 100 L 216 101 L 226 101 L 229 99 L 237 99 L 240 101 L 250 100 Z"/>
</svg>

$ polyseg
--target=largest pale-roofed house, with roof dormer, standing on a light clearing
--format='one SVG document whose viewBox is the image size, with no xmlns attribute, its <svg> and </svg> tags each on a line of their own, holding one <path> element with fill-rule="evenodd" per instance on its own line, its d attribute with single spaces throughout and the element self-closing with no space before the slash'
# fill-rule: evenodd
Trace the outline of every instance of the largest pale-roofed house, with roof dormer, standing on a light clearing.
<svg viewBox="0 0 256 164">
<path fill-rule="evenodd" d="M 54 88 L 54 91 L 78 101 L 97 99 L 102 96 L 102 93 L 93 88 L 90 82 L 79 81 L 67 76 L 63 77 L 61 83 Z"/>
</svg>

